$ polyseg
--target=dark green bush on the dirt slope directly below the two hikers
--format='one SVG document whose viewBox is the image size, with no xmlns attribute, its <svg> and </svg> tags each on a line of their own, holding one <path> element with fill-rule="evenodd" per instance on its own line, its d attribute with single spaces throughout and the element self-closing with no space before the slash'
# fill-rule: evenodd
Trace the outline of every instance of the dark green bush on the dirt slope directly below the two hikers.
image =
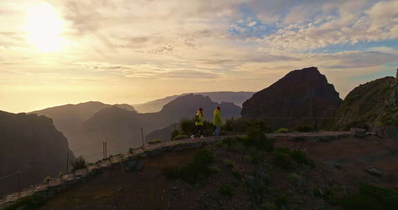
<svg viewBox="0 0 398 210">
<path fill-rule="evenodd" d="M 189 184 L 196 184 L 209 178 L 213 172 L 209 164 L 214 162 L 214 155 L 210 151 L 198 151 L 191 162 L 184 166 L 171 166 L 163 169 L 163 174 L 170 179 L 184 180 Z"/>
</svg>

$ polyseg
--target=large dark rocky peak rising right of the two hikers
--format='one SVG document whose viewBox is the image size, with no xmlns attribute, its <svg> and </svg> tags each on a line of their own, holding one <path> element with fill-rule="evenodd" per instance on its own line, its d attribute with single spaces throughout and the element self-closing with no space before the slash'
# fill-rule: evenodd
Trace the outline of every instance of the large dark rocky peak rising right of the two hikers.
<svg viewBox="0 0 398 210">
<path fill-rule="evenodd" d="M 316 67 L 293 70 L 243 103 L 244 118 L 263 118 L 274 128 L 332 124 L 339 93 Z"/>
</svg>

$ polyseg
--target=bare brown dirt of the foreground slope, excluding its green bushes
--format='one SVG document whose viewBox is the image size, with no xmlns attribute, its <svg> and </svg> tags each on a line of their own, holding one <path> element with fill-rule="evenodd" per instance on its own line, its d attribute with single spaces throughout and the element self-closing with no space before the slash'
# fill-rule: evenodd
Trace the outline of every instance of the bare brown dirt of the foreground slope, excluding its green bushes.
<svg viewBox="0 0 398 210">
<path fill-rule="evenodd" d="M 295 209 L 339 209 L 310 195 L 311 187 L 339 187 L 343 193 L 359 182 L 398 186 L 398 142 L 394 140 L 374 136 L 332 142 L 288 142 L 278 139 L 276 146 L 300 149 L 317 164 L 316 169 L 300 173 L 303 178 L 310 180 L 306 187 L 288 182 L 290 172 L 279 169 L 270 172 L 274 182 L 272 192 L 289 198 L 290 207 Z M 189 162 L 193 153 L 198 151 L 189 149 L 143 159 L 143 169 L 140 171 L 106 171 L 57 194 L 41 209 L 252 209 L 252 201 L 243 180 L 237 181 L 222 166 L 222 160 L 233 160 L 245 174 L 256 171 L 256 166 L 245 163 L 242 156 L 234 152 L 222 151 L 215 146 L 210 149 L 218 159 L 214 166 L 222 170 L 199 186 L 191 187 L 180 180 L 167 180 L 162 175 L 164 166 Z M 381 171 L 381 177 L 368 173 L 367 166 Z M 218 193 L 221 185 L 226 183 L 237 186 L 232 198 L 222 197 Z M 272 196 L 267 199 L 274 200 Z"/>
</svg>

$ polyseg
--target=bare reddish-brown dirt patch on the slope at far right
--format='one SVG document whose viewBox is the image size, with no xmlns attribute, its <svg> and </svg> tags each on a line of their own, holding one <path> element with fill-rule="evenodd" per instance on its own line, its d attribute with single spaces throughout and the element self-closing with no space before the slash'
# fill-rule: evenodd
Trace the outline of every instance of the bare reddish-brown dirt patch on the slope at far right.
<svg viewBox="0 0 398 210">
<path fill-rule="evenodd" d="M 397 140 L 369 136 L 332 142 L 293 143 L 281 140 L 278 144 L 307 151 L 310 158 L 325 164 L 333 179 L 341 184 L 365 182 L 383 187 L 398 187 Z M 381 177 L 368 173 L 368 166 L 379 170 Z"/>
</svg>

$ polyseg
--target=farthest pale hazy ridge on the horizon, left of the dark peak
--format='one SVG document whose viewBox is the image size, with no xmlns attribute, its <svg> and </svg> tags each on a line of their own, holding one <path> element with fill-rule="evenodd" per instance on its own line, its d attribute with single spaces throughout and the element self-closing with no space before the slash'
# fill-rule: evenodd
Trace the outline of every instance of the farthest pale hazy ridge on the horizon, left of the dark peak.
<svg viewBox="0 0 398 210">
<path fill-rule="evenodd" d="M 223 92 L 204 92 L 204 93 L 193 93 L 195 95 L 203 95 L 203 96 L 209 96 L 210 99 L 213 102 L 231 102 L 236 104 L 237 106 L 242 106 L 243 102 L 245 102 L 247 99 L 252 97 L 252 95 L 255 92 L 229 92 L 229 91 L 223 91 Z M 189 95 L 192 93 L 184 93 L 181 95 L 172 95 L 169 97 L 164 97 L 162 99 L 156 99 L 150 102 L 146 102 L 144 104 L 135 104 L 133 107 L 140 113 L 155 113 L 158 112 L 162 109 L 164 105 L 167 103 L 173 101 L 173 99 L 176 99 L 178 97 L 184 96 L 184 95 Z"/>
</svg>

